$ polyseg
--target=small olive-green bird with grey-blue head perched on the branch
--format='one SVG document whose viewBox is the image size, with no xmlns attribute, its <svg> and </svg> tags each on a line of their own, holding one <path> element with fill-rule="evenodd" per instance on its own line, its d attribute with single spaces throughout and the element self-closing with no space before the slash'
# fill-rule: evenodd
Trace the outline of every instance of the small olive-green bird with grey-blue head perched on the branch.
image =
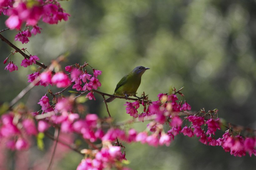
<svg viewBox="0 0 256 170">
<path fill-rule="evenodd" d="M 137 97 L 136 92 L 140 86 L 141 76 L 147 69 L 149 68 L 143 66 L 135 67 L 129 74 L 125 75 L 119 83 L 117 83 L 113 95 L 126 97 L 133 95 L 134 97 Z M 114 97 L 110 97 L 106 102 L 112 102 L 114 99 Z"/>
</svg>

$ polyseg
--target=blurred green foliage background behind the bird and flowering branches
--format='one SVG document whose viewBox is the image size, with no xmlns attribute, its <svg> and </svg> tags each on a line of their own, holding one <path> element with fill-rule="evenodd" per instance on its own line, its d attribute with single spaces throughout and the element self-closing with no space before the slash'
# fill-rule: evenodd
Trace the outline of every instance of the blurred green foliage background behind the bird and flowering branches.
<svg viewBox="0 0 256 170">
<path fill-rule="evenodd" d="M 143 91 L 151 100 L 171 87 L 182 90 L 193 111 L 219 109 L 219 117 L 234 124 L 256 129 L 256 4 L 254 0 L 72 0 L 61 2 L 71 14 L 58 25 L 40 23 L 42 33 L 27 45 L 14 42 L 15 31 L 6 36 L 20 48 L 39 56 L 48 65 L 58 55 L 69 52 L 65 65 L 85 61 L 101 70 L 101 92 L 112 94 L 118 81 L 134 67 L 149 67 L 142 76 L 138 95 Z M 1 16 L 2 29 L 7 17 Z M 2 30 L 1 29 L 1 30 Z M 11 49 L 0 43 L 1 61 Z M 0 102 L 10 102 L 26 85 L 32 73 L 19 70 L 0 73 Z M 46 93 L 34 87 L 22 100 L 30 108 Z M 102 97 L 86 105 L 91 113 L 107 116 Z M 116 121 L 130 119 L 124 100 L 109 104 Z M 146 124 L 131 125 L 144 130 Z M 239 158 L 221 147 L 206 146 L 198 138 L 175 137 L 170 147 L 153 148 L 125 144 L 132 169 L 254 169 L 255 156 Z M 70 153 L 59 162 L 60 169 L 75 169 L 80 156 Z M 77 159 L 75 159 L 77 158 Z M 67 161 L 67 160 L 72 161 Z"/>
</svg>

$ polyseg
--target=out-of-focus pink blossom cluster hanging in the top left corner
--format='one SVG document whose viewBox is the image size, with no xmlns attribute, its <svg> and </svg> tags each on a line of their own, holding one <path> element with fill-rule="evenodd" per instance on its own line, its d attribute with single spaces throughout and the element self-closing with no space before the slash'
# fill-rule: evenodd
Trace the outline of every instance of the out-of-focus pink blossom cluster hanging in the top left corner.
<svg viewBox="0 0 256 170">
<path fill-rule="evenodd" d="M 48 24 L 57 24 L 61 20 L 67 21 L 70 16 L 64 12 L 57 0 L 35 0 L 33 2 L 1 0 L 0 12 L 9 16 L 5 24 L 10 29 L 20 30 L 23 23 L 26 26 L 32 26 L 31 31 L 28 28 L 15 36 L 15 41 L 21 41 L 22 44 L 29 42 L 28 37 L 31 36 L 31 33 L 36 35 L 41 32 L 42 28 L 37 26 L 39 20 L 42 19 Z"/>
</svg>

